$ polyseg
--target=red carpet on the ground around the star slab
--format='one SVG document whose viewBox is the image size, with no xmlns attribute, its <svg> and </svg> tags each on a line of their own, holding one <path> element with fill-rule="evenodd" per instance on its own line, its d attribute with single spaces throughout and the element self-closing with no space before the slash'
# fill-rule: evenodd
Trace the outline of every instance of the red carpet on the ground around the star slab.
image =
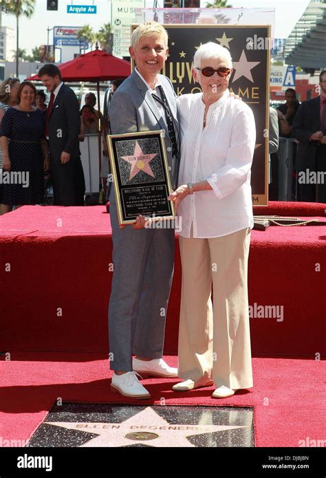
<svg viewBox="0 0 326 478">
<path fill-rule="evenodd" d="M 110 391 L 107 360 L 94 354 L 13 353 L 0 360 L 1 437 L 27 440 L 58 398 L 76 402 L 129 402 Z M 177 358 L 168 357 L 170 365 Z M 210 398 L 213 387 L 175 393 L 176 379 L 142 381 L 152 400 L 167 405 L 253 406 L 256 446 L 299 446 L 325 437 L 325 362 L 254 358 L 254 388 L 224 400 Z"/>
</svg>

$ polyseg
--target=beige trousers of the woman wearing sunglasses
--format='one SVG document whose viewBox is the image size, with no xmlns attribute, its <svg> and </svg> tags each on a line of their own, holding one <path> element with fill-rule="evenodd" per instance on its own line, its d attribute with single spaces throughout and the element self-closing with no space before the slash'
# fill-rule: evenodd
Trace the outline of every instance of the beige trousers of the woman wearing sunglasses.
<svg viewBox="0 0 326 478">
<path fill-rule="evenodd" d="M 213 239 L 179 236 L 179 244 L 178 375 L 195 382 L 213 380 L 216 387 L 252 387 L 247 282 L 250 228 Z"/>
</svg>

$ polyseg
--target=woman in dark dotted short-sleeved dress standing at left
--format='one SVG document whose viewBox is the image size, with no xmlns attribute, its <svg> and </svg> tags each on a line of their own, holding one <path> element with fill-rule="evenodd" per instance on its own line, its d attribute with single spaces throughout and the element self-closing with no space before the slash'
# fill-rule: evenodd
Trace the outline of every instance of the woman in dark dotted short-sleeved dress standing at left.
<svg viewBox="0 0 326 478">
<path fill-rule="evenodd" d="M 34 85 L 23 81 L 19 105 L 8 109 L 1 122 L 3 213 L 9 213 L 12 206 L 43 202 L 44 171 L 50 163 L 44 113 L 32 106 L 35 97 Z"/>
</svg>

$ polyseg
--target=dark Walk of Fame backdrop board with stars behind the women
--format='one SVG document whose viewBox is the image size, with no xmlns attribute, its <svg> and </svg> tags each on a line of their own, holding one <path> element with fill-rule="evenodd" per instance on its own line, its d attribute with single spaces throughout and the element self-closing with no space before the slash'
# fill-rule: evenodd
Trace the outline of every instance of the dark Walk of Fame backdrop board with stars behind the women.
<svg viewBox="0 0 326 478">
<path fill-rule="evenodd" d="M 132 25 L 132 30 L 138 25 Z M 270 86 L 270 25 L 163 25 L 169 34 L 169 57 L 162 74 L 175 93 L 199 93 L 191 74 L 193 56 L 203 43 L 213 41 L 228 48 L 233 72 L 230 91 L 239 95 L 254 113 L 256 146 L 251 170 L 252 202 L 268 204 L 268 124 Z"/>
</svg>

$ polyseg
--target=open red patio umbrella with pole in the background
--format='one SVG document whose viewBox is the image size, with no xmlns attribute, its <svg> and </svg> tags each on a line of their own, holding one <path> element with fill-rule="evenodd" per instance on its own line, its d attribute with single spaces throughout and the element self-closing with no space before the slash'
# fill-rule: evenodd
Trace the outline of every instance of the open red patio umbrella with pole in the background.
<svg viewBox="0 0 326 478">
<path fill-rule="evenodd" d="M 131 64 L 129 61 L 121 60 L 116 56 L 103 52 L 96 48 L 92 52 L 66 61 L 58 65 L 61 76 L 65 81 L 92 81 L 97 83 L 98 89 L 98 111 L 100 113 L 100 81 L 116 80 L 117 78 L 127 78 L 131 74 Z M 38 75 L 30 76 L 27 80 L 41 81 Z M 101 136 L 98 135 L 98 153 L 101 157 Z"/>
</svg>

